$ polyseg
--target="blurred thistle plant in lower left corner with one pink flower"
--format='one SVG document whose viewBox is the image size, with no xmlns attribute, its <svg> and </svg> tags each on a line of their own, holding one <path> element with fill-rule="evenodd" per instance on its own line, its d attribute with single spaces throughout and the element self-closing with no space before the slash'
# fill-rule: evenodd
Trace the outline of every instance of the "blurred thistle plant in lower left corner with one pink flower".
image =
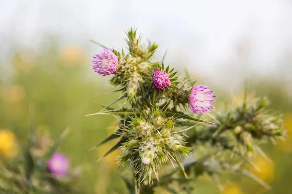
<svg viewBox="0 0 292 194">
<path fill-rule="evenodd" d="M 0 160 L 1 194 L 67 194 L 76 191 L 80 169 L 71 168 L 69 158 L 56 149 L 68 134 L 66 129 L 54 143 L 48 133 L 37 130 L 23 147 L 22 156 Z"/>
</svg>

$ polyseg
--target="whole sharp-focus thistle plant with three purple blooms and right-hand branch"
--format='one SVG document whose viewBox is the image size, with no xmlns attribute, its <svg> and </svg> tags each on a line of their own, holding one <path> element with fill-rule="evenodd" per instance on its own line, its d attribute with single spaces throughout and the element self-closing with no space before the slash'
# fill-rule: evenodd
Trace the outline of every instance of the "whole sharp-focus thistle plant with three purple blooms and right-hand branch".
<svg viewBox="0 0 292 194">
<path fill-rule="evenodd" d="M 259 141 L 274 142 L 284 135 L 281 116 L 267 109 L 266 99 L 245 97 L 241 106 L 211 115 L 214 91 L 188 76 L 176 77 L 177 72 L 165 66 L 164 60 L 155 62 L 152 56 L 157 44 L 143 44 L 135 29 L 127 32 L 126 42 L 128 52 L 104 48 L 93 57 L 92 68 L 110 76 L 110 84 L 121 95 L 102 105 L 101 112 L 89 115 L 118 117 L 119 128 L 97 146 L 120 138 L 104 157 L 122 149 L 117 160 L 119 168 L 131 166 L 133 181 L 122 175 L 130 193 L 152 194 L 155 188 L 192 193 L 195 178 L 207 173 L 219 183 L 219 171 L 267 186 L 242 166 L 244 162 L 253 165 L 249 158 L 256 151 L 262 153 Z M 128 106 L 111 107 L 122 99 Z M 200 152 L 201 147 L 204 151 Z"/>
</svg>

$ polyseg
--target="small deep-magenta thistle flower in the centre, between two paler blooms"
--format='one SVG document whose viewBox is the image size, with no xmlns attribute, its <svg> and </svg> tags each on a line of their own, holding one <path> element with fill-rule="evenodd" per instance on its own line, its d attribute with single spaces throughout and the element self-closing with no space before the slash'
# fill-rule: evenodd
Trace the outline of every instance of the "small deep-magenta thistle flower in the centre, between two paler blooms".
<svg viewBox="0 0 292 194">
<path fill-rule="evenodd" d="M 156 72 L 153 71 L 153 81 L 154 84 L 153 89 L 162 90 L 167 86 L 170 86 L 170 81 L 168 74 L 165 71 L 161 71 L 159 68 L 156 68 Z"/>
</svg>

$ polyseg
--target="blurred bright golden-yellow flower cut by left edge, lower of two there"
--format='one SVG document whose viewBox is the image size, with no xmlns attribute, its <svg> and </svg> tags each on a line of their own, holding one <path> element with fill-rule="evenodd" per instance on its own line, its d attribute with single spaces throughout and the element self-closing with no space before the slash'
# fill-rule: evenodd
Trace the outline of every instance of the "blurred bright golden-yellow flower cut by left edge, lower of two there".
<svg viewBox="0 0 292 194">
<path fill-rule="evenodd" d="M 18 146 L 13 132 L 7 129 L 0 129 L 0 154 L 5 157 L 15 157 L 18 153 Z"/>
</svg>

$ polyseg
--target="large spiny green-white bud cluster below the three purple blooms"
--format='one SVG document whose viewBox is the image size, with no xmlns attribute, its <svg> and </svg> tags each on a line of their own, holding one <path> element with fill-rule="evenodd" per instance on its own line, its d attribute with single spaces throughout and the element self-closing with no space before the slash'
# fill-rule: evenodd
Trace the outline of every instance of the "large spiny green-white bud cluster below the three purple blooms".
<svg viewBox="0 0 292 194">
<path fill-rule="evenodd" d="M 128 141 L 122 146 L 120 166 L 130 161 L 140 181 L 152 184 L 152 173 L 158 179 L 161 165 L 172 160 L 179 162 L 181 155 L 189 154 L 189 148 L 173 130 L 173 121 L 158 110 L 130 119 L 130 125 L 124 129 L 127 132 L 123 133 Z"/>
</svg>

